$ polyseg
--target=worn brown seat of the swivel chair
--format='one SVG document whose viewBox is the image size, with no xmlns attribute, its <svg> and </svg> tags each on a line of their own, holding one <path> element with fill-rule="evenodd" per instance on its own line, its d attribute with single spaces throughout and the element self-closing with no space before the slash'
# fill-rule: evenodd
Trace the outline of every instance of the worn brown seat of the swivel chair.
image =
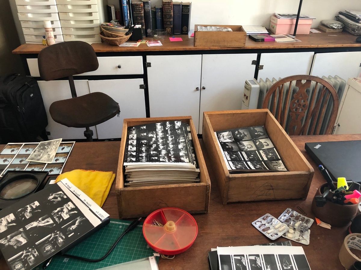
<svg viewBox="0 0 361 270">
<path fill-rule="evenodd" d="M 53 102 L 49 112 L 55 122 L 64 126 L 90 127 L 116 116 L 119 105 L 110 96 L 95 92 Z"/>
</svg>

